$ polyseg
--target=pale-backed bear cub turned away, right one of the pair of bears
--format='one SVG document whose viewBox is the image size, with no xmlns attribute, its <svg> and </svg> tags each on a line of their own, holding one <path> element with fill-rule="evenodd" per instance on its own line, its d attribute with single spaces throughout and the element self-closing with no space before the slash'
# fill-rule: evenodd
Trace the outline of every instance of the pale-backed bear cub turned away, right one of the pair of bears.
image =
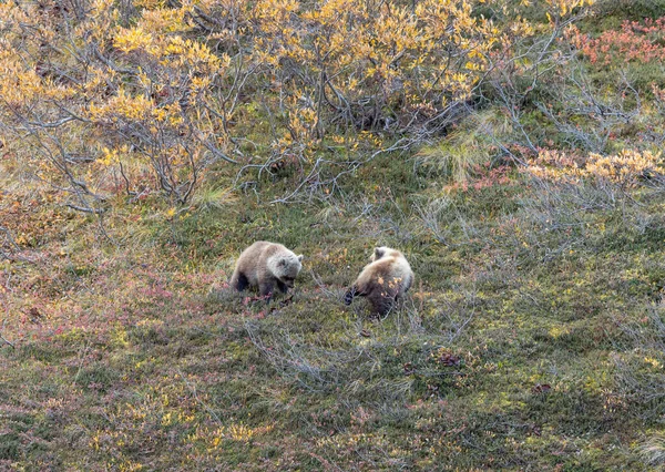
<svg viewBox="0 0 665 472">
<path fill-rule="evenodd" d="M 375 248 L 371 260 L 346 293 L 345 302 L 350 305 L 354 297 L 367 297 L 372 315 L 383 317 L 411 287 L 413 271 L 405 255 L 390 247 Z"/>
</svg>

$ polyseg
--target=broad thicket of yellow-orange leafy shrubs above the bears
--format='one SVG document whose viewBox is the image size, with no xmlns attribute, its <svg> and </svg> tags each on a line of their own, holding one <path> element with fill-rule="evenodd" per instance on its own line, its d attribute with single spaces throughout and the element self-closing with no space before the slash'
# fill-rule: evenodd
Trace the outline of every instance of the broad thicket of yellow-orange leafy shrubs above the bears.
<svg viewBox="0 0 665 472">
<path fill-rule="evenodd" d="M 442 126 L 490 57 L 534 31 L 521 18 L 500 28 L 474 4 L 0 3 L 0 137 L 22 136 L 31 172 L 78 199 L 152 187 L 185 203 L 213 164 L 249 161 L 237 138 L 268 119 L 260 145 L 300 166 L 326 137 L 350 152 L 361 131 Z M 586 4 L 544 1 L 555 17 Z"/>
</svg>

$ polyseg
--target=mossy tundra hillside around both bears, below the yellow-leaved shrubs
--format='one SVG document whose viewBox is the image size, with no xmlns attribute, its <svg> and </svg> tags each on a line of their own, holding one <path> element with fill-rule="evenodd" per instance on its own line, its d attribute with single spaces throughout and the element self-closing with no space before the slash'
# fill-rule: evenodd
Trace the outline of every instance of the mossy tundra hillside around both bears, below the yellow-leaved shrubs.
<svg viewBox="0 0 665 472">
<path fill-rule="evenodd" d="M 617 3 L 418 146 L 382 122 L 275 157 L 278 91 L 238 99 L 247 161 L 181 202 L 143 162 L 81 208 L 3 132 L 0 469 L 661 470 L 665 84 L 621 44 L 665 23 L 602 37 L 664 13 Z M 229 289 L 258 239 L 305 255 L 293 297 Z M 416 281 L 370 319 L 342 298 L 380 245 Z"/>
</svg>

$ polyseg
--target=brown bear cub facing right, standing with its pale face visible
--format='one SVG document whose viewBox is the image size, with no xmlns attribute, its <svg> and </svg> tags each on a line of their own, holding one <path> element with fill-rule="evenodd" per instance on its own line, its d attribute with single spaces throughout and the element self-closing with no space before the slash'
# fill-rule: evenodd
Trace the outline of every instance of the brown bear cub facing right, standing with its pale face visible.
<svg viewBox="0 0 665 472">
<path fill-rule="evenodd" d="M 287 293 L 303 268 L 303 255 L 296 256 L 280 244 L 259 240 L 243 250 L 231 277 L 231 286 L 243 291 L 258 287 L 262 297 L 273 297 L 275 286 Z"/>
</svg>

